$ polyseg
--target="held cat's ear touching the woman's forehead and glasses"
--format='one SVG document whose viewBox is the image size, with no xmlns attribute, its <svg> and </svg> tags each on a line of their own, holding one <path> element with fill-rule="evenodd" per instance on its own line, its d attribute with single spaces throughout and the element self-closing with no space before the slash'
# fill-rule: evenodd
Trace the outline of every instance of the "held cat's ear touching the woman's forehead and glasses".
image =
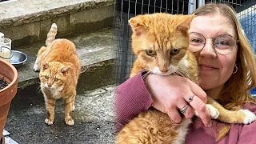
<svg viewBox="0 0 256 144">
<path fill-rule="evenodd" d="M 182 22 L 175 26 L 175 30 L 187 33 L 187 31 L 190 29 L 190 22 L 192 21 L 193 18 L 194 14 L 188 14 L 183 16 Z"/>
</svg>

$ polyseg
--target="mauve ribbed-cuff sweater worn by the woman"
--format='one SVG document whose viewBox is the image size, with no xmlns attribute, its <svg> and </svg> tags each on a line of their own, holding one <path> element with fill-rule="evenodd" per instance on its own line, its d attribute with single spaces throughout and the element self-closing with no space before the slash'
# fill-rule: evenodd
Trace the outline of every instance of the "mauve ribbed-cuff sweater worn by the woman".
<svg viewBox="0 0 256 144">
<path fill-rule="evenodd" d="M 150 92 L 146 89 L 142 79 L 142 74 L 137 74 L 129 78 L 126 82 L 118 86 L 114 100 L 114 112 L 116 118 L 116 130 L 122 129 L 130 119 L 134 118 L 140 112 L 148 110 L 152 104 Z M 256 105 L 248 103 L 244 109 L 248 109 L 256 114 Z M 195 118 L 190 124 L 189 134 L 186 136 L 187 144 L 256 144 L 256 122 L 250 125 L 232 124 L 230 132 L 215 142 L 218 136 L 218 130 L 221 130 L 222 122 L 212 120 L 210 128 L 202 124 L 200 118 Z"/>
</svg>

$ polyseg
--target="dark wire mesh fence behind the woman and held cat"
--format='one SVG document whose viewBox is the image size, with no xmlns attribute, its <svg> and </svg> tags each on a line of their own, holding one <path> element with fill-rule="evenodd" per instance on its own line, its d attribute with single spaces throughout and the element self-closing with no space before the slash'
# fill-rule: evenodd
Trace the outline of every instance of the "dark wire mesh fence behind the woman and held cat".
<svg viewBox="0 0 256 144">
<path fill-rule="evenodd" d="M 115 2 L 115 35 L 117 42 L 117 83 L 129 78 L 134 62 L 131 50 L 131 30 L 128 20 L 138 14 L 165 12 L 170 14 L 190 14 L 198 6 L 207 2 L 227 3 L 234 7 L 245 34 L 256 50 L 256 1 L 255 0 L 116 0 Z M 253 90 L 256 94 L 256 90 Z"/>
</svg>

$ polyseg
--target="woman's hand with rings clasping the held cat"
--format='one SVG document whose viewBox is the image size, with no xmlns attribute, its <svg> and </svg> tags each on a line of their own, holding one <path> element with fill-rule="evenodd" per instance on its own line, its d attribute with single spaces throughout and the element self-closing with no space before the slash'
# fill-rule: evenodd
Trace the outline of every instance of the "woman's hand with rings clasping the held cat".
<svg viewBox="0 0 256 144">
<path fill-rule="evenodd" d="M 186 118 L 193 118 L 194 110 L 197 110 L 204 125 L 211 126 L 210 114 L 206 108 L 206 93 L 200 86 L 188 78 L 177 75 L 149 74 L 146 76 L 145 82 L 152 95 L 152 106 L 168 114 L 174 122 L 182 121 L 178 109 L 188 105 L 184 114 Z M 194 96 L 193 100 L 189 102 L 189 98 L 192 96 Z"/>
</svg>

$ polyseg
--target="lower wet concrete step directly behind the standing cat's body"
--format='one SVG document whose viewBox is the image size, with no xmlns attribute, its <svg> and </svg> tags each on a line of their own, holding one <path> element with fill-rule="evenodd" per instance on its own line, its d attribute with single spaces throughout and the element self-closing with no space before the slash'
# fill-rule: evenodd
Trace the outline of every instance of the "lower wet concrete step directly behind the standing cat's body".
<svg viewBox="0 0 256 144">
<path fill-rule="evenodd" d="M 114 30 L 106 28 L 90 34 L 81 34 L 68 38 L 77 47 L 82 62 L 82 73 L 78 80 L 78 94 L 86 90 L 94 90 L 100 86 L 114 84 Z M 41 46 L 44 42 L 34 43 L 30 46 L 19 47 L 18 50 L 28 55 L 27 62 L 18 67 L 18 90 L 27 86 L 38 85 L 38 73 L 33 66 Z M 15 48 L 13 48 L 15 50 Z"/>
</svg>

